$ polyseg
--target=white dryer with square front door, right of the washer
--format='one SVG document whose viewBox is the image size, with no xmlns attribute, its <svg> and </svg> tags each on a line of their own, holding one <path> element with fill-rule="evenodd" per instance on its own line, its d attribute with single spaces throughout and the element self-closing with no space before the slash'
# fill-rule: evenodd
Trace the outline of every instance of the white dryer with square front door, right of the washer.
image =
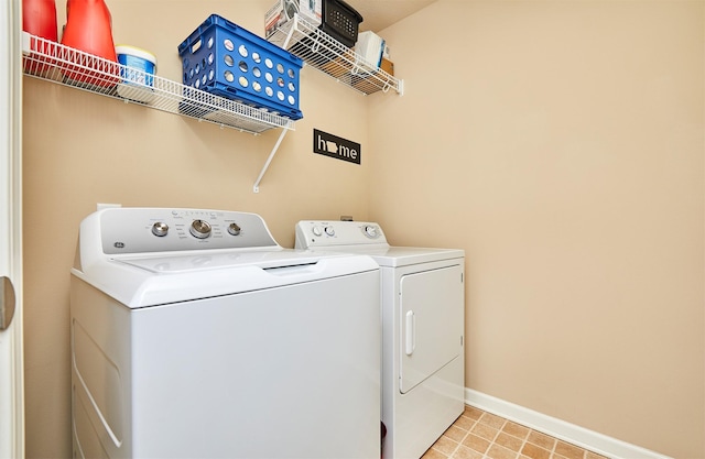
<svg viewBox="0 0 705 459">
<path fill-rule="evenodd" d="M 465 252 L 390 247 L 360 221 L 300 221 L 296 248 L 380 265 L 383 457 L 420 458 L 465 408 Z"/>
</svg>

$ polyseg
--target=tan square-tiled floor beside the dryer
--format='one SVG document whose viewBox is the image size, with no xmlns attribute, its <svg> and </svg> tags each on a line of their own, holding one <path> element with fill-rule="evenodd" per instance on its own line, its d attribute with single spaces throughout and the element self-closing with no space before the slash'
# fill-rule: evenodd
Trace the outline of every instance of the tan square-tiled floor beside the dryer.
<svg viewBox="0 0 705 459">
<path fill-rule="evenodd" d="M 606 459 L 503 417 L 466 406 L 422 459 Z"/>
</svg>

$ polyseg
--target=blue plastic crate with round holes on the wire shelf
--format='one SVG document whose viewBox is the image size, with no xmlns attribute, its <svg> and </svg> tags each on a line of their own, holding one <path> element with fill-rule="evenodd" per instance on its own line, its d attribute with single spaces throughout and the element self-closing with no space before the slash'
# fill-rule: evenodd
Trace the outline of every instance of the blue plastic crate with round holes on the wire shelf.
<svg viewBox="0 0 705 459">
<path fill-rule="evenodd" d="M 303 61 L 241 26 L 212 14 L 182 44 L 184 85 L 292 120 L 299 109 Z"/>
</svg>

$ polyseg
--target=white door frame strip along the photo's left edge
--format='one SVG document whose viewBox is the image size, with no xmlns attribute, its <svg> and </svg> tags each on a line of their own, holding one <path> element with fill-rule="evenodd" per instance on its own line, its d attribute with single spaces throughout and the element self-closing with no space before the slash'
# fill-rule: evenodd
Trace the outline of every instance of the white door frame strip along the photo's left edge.
<svg viewBox="0 0 705 459">
<path fill-rule="evenodd" d="M 12 296 L 4 295 L 9 291 L 14 294 L 14 316 L 0 330 L 0 459 L 23 458 L 25 453 L 21 10 L 20 0 L 0 1 L 0 288 L 4 297 Z"/>
</svg>

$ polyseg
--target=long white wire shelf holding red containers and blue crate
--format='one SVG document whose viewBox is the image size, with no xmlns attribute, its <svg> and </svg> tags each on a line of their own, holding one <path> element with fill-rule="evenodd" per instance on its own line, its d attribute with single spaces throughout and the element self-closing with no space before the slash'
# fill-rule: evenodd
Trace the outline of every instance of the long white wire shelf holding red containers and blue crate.
<svg viewBox="0 0 705 459">
<path fill-rule="evenodd" d="M 214 96 L 26 32 L 22 33 L 22 53 L 24 74 L 31 77 L 253 134 L 274 128 L 293 130 L 294 127 L 293 120 L 276 113 Z"/>
</svg>

